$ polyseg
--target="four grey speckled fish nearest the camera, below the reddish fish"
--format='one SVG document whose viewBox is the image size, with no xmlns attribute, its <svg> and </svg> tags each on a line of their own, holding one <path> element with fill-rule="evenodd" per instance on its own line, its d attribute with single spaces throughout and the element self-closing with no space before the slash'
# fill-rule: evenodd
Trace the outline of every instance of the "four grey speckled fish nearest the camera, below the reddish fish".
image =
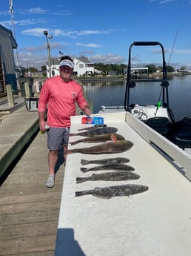
<svg viewBox="0 0 191 256">
<path fill-rule="evenodd" d="M 111 170 L 99 174 L 92 174 L 88 177 L 76 177 L 76 183 L 84 183 L 86 181 L 124 181 L 124 180 L 138 180 L 140 175 L 133 172 L 135 168 L 124 163 L 129 163 L 130 160 L 124 157 L 107 158 L 101 160 L 81 160 L 81 165 L 98 164 L 92 168 L 80 168 L 84 173 L 87 171 L 103 171 Z M 100 165 L 101 164 L 101 165 Z M 115 170 L 115 171 L 114 171 Z M 148 186 L 138 184 L 126 184 L 119 186 L 96 187 L 84 191 L 76 191 L 76 197 L 91 194 L 95 197 L 103 199 L 110 199 L 112 197 L 130 196 L 131 194 L 138 194 L 149 189 Z"/>
</svg>

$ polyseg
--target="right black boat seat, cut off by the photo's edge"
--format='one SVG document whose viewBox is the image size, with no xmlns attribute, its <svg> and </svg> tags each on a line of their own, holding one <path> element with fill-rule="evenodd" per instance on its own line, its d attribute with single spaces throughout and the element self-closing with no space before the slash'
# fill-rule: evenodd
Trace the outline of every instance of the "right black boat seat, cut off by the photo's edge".
<svg viewBox="0 0 191 256">
<path fill-rule="evenodd" d="M 191 148 L 191 116 L 172 123 L 167 138 L 180 148 Z"/>
</svg>

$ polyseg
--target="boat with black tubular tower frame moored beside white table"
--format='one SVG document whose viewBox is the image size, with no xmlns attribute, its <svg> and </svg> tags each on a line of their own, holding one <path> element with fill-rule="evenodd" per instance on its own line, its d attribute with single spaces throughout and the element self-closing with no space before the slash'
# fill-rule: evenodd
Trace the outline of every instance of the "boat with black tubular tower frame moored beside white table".
<svg viewBox="0 0 191 256">
<path fill-rule="evenodd" d="M 132 76 L 132 49 L 133 47 L 155 47 L 161 48 L 162 70 L 160 76 L 151 78 L 150 76 Z M 158 95 L 158 101 L 155 105 L 147 105 L 145 102 L 131 102 L 133 89 L 136 84 L 145 82 L 158 83 L 161 91 Z M 164 55 L 164 47 L 160 42 L 133 42 L 129 47 L 129 60 L 127 65 L 127 82 L 124 95 L 123 106 L 101 106 L 99 113 L 127 111 L 140 121 L 149 125 L 155 131 L 158 131 L 168 140 L 178 145 L 178 147 L 190 151 L 191 148 L 191 116 L 185 116 L 184 119 L 175 122 L 174 115 L 170 108 L 170 99 L 168 88 L 170 83 L 167 80 L 167 64 Z"/>
</svg>

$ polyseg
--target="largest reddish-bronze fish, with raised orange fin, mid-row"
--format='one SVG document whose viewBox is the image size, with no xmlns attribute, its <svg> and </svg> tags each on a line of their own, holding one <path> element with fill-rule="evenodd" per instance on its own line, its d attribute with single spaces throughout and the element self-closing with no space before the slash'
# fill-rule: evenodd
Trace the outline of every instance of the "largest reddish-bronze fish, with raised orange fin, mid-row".
<svg viewBox="0 0 191 256">
<path fill-rule="evenodd" d="M 65 154 L 81 153 L 81 154 L 115 154 L 130 150 L 133 142 L 130 140 L 118 140 L 117 142 L 104 142 L 88 148 L 67 149 Z"/>
</svg>

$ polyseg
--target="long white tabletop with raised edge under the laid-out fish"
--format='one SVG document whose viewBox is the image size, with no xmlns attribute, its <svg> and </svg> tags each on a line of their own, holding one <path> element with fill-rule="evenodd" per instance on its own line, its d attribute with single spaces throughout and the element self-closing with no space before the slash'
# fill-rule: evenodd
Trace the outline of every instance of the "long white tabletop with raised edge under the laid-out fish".
<svg viewBox="0 0 191 256">
<path fill-rule="evenodd" d="M 96 116 L 96 115 L 95 115 Z M 191 255 L 191 183 L 190 156 L 161 138 L 158 145 L 167 148 L 187 168 L 187 177 L 170 158 L 156 151 L 146 140 L 158 134 L 128 113 L 101 114 L 107 126 L 118 128 L 126 140 L 134 145 L 121 154 L 70 154 L 64 175 L 61 208 L 58 220 L 56 256 L 180 256 Z M 127 119 L 127 121 L 126 121 Z M 140 123 L 140 126 L 139 126 Z M 143 133 L 144 140 L 135 129 Z M 82 128 L 81 116 L 72 119 L 71 133 Z M 81 137 L 70 137 L 70 142 Z M 158 139 L 156 139 L 158 140 Z M 84 148 L 97 143 L 79 143 L 70 148 Z M 141 178 L 133 181 L 87 181 L 76 184 L 83 174 L 81 159 L 93 160 L 113 157 L 130 158 L 130 164 Z M 93 167 L 94 165 L 87 165 Z M 101 172 L 101 171 L 99 171 Z M 141 184 L 149 190 L 130 197 L 109 200 L 85 195 L 75 197 L 76 191 L 121 184 Z"/>
</svg>

